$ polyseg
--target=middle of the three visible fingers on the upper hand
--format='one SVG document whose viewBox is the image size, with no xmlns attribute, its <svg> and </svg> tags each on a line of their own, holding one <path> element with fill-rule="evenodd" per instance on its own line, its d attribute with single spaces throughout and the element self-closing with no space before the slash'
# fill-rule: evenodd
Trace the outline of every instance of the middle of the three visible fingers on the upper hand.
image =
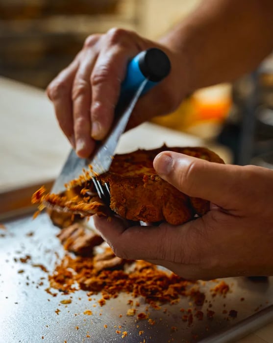
<svg viewBox="0 0 273 343">
<path fill-rule="evenodd" d="M 97 53 L 92 48 L 83 52 L 72 89 L 76 153 L 85 158 L 90 156 L 95 147 L 95 141 L 91 138 L 90 75 L 96 58 Z"/>
</svg>

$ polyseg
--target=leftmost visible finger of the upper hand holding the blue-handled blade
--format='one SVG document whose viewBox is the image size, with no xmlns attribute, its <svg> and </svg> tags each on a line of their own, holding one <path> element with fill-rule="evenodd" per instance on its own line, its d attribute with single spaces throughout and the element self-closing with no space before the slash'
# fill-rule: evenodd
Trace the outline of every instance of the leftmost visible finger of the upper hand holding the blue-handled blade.
<svg viewBox="0 0 273 343">
<path fill-rule="evenodd" d="M 47 95 L 53 102 L 58 123 L 74 148 L 75 139 L 71 92 L 78 65 L 79 55 L 76 56 L 74 61 L 66 69 L 51 81 L 47 88 Z"/>
</svg>

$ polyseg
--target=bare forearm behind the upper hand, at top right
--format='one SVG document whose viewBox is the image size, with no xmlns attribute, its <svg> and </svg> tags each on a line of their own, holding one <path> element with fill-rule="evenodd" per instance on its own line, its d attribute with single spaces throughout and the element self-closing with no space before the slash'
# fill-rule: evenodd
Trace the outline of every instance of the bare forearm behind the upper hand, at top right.
<svg viewBox="0 0 273 343">
<path fill-rule="evenodd" d="M 273 49 L 273 1 L 203 0 L 161 43 L 182 52 L 189 92 L 232 81 Z"/>
</svg>

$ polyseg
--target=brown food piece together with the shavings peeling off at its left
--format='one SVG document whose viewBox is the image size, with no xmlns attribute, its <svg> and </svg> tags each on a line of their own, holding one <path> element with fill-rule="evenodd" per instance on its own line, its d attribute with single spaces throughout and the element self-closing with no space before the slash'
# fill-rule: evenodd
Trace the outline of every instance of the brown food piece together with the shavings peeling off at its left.
<svg viewBox="0 0 273 343">
<path fill-rule="evenodd" d="M 110 208 L 116 214 L 132 221 L 167 221 L 177 225 L 193 219 L 196 214 L 204 215 L 209 210 L 209 201 L 186 196 L 156 174 L 153 159 L 165 150 L 223 163 L 215 152 L 204 147 L 163 146 L 117 154 L 109 171 L 97 177 L 109 185 Z M 81 186 L 69 189 L 62 195 L 46 194 L 44 189 L 40 189 L 33 195 L 33 202 L 82 216 L 95 213 L 109 216 L 109 208 L 94 195 L 92 180 L 86 177 L 80 180 Z M 77 183 L 78 180 L 74 184 Z"/>
</svg>

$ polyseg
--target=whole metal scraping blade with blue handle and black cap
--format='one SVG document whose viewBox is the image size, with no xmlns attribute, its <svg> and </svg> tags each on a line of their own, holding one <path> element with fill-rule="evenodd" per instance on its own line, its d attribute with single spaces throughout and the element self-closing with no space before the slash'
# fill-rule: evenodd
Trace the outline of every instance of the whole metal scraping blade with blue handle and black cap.
<svg viewBox="0 0 273 343">
<path fill-rule="evenodd" d="M 115 110 L 117 119 L 112 129 L 106 138 L 99 142 L 89 158 L 79 158 L 75 151 L 71 150 L 51 193 L 59 194 L 65 191 L 65 184 L 78 178 L 83 173 L 83 169 L 88 170 L 90 165 L 93 173 L 91 176 L 109 170 L 119 138 L 125 130 L 138 98 L 165 78 L 170 70 L 171 63 L 168 56 L 157 48 L 140 52 L 128 63 Z"/>
</svg>

